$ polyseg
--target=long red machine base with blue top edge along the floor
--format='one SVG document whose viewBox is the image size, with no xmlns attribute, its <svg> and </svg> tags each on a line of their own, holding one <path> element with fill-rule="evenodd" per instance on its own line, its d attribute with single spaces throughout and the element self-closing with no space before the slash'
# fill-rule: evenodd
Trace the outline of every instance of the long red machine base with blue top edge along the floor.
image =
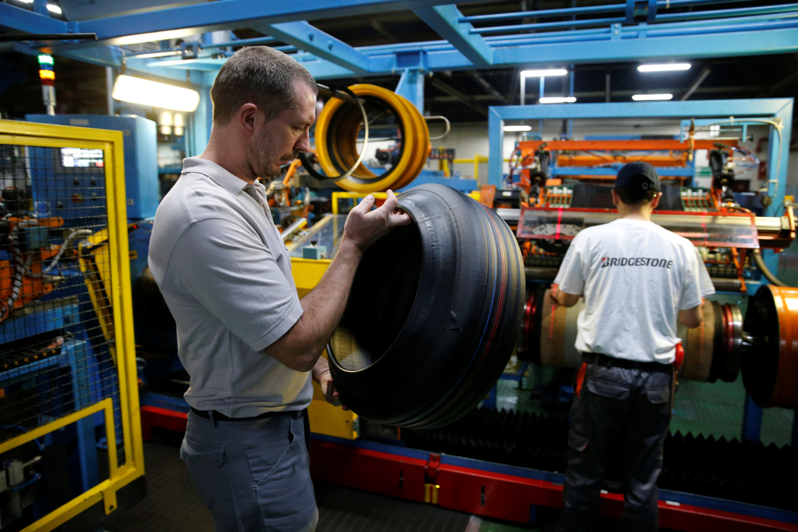
<svg viewBox="0 0 798 532">
<path fill-rule="evenodd" d="M 141 407 L 144 439 L 152 439 L 151 427 L 185 431 L 186 420 L 184 412 L 150 405 Z M 314 435 L 310 453 L 310 473 L 314 479 L 516 522 L 533 521 L 536 506 L 563 507 L 562 483 L 545 479 L 556 480 L 562 475 L 535 472 L 543 478 L 531 478 L 524 475 L 527 471 L 531 470 L 322 435 Z M 669 492 L 662 494 L 670 495 Z M 685 532 L 798 532 L 798 514 L 793 512 L 696 495 L 676 495 L 678 497 L 674 498 L 694 498 L 696 502 L 717 502 L 721 506 L 745 506 L 751 513 L 770 514 L 784 520 L 660 500 L 659 522 L 663 528 Z M 622 494 L 602 493 L 602 516 L 618 518 L 622 505 Z"/>
</svg>

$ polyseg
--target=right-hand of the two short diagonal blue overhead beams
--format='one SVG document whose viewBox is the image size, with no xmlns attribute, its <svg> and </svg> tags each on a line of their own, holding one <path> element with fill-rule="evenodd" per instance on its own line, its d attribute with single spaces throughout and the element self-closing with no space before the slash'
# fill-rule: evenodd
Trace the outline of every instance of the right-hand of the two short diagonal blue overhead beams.
<svg viewBox="0 0 798 532">
<path fill-rule="evenodd" d="M 440 37 L 460 51 L 473 66 L 484 67 L 493 62 L 493 49 L 481 35 L 473 34 L 474 27 L 470 22 L 459 22 L 463 16 L 457 6 L 426 7 L 413 10 L 421 20 L 437 32 Z"/>
</svg>

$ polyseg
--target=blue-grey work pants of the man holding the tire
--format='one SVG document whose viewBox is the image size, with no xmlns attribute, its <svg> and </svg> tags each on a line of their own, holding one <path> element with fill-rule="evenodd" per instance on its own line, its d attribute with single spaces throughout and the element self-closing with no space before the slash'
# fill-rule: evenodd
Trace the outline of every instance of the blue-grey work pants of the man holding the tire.
<svg viewBox="0 0 798 532">
<path fill-rule="evenodd" d="M 217 532 L 311 532 L 318 510 L 304 414 L 212 421 L 189 412 L 180 458 Z"/>
</svg>

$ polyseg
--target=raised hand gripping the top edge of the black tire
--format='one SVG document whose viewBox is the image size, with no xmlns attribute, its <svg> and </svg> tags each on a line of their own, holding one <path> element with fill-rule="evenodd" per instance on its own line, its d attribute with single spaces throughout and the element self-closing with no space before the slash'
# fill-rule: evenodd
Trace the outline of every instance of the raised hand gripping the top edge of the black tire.
<svg viewBox="0 0 798 532">
<path fill-rule="evenodd" d="M 342 240 L 354 244 L 361 252 L 365 252 L 392 228 L 407 225 L 411 221 L 410 216 L 397 209 L 399 202 L 393 191 L 388 191 L 385 203 L 371 210 L 374 201 L 374 197 L 369 194 L 346 216 Z"/>
</svg>

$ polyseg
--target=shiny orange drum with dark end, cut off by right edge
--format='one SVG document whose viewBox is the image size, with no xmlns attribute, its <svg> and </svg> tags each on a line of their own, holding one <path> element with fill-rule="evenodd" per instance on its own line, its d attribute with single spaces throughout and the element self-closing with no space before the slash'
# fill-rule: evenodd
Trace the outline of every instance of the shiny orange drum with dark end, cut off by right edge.
<svg viewBox="0 0 798 532">
<path fill-rule="evenodd" d="M 745 312 L 741 369 L 760 407 L 798 407 L 798 288 L 757 290 Z"/>
</svg>

